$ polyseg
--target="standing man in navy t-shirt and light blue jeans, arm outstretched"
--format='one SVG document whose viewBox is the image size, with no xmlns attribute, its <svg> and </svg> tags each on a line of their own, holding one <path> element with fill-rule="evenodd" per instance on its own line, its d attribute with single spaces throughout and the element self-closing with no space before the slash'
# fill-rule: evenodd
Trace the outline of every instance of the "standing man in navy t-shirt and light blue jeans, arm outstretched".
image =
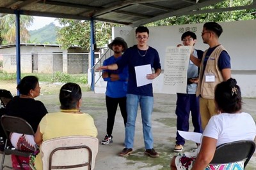
<svg viewBox="0 0 256 170">
<path fill-rule="evenodd" d="M 128 66 L 129 80 L 127 87 L 127 124 L 125 126 L 125 148 L 119 153 L 120 156 L 127 156 L 132 152 L 135 132 L 135 122 L 138 106 L 141 108 L 141 118 L 143 125 L 143 138 L 145 144 L 145 154 L 150 157 L 159 157 L 154 150 L 153 135 L 151 129 L 151 116 L 153 111 L 154 97 L 152 83 L 138 87 L 136 81 L 136 66 L 150 64 L 154 68 L 154 73 L 147 74 L 148 80 L 153 80 L 161 73 L 161 64 L 156 49 L 147 45 L 149 31 L 147 27 L 140 26 L 136 29 L 137 45 L 128 48 L 122 55 L 122 59 L 115 64 L 102 66 L 98 69 L 116 70 Z"/>
</svg>

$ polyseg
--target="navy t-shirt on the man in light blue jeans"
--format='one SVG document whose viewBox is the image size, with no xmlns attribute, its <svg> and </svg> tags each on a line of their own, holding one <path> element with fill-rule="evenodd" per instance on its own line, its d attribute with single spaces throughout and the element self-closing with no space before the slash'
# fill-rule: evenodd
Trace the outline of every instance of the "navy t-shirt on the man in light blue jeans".
<svg viewBox="0 0 256 170">
<path fill-rule="evenodd" d="M 148 50 L 139 50 L 137 45 L 134 45 L 125 51 L 122 59 L 118 60 L 116 64 L 118 68 L 128 66 L 129 80 L 127 94 L 153 96 L 152 83 L 137 87 L 134 67 L 150 64 L 155 70 L 161 69 L 160 59 L 156 49 L 149 46 Z"/>
</svg>

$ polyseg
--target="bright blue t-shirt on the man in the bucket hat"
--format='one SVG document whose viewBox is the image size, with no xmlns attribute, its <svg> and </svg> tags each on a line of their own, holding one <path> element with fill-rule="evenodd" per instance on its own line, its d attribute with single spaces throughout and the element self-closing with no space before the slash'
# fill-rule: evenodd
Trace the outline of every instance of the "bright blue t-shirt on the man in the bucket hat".
<svg viewBox="0 0 256 170">
<path fill-rule="evenodd" d="M 116 63 L 122 57 L 115 58 L 114 56 L 104 60 L 103 66 Z M 127 80 L 128 80 L 128 67 L 118 68 L 116 70 L 104 70 L 103 72 L 118 74 L 119 80 L 111 81 L 111 78 L 103 78 L 104 81 L 108 81 L 106 96 L 112 98 L 125 97 L 127 92 Z"/>
</svg>

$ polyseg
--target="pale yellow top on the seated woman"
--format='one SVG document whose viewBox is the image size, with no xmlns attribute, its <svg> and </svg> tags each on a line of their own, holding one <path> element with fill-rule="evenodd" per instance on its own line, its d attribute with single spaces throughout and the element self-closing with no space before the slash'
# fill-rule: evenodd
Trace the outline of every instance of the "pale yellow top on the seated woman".
<svg viewBox="0 0 256 170">
<path fill-rule="evenodd" d="M 93 118 L 87 113 L 48 113 L 42 118 L 39 126 L 43 141 L 71 135 L 96 137 L 98 134 Z M 40 153 L 36 156 L 35 167 L 37 170 L 42 169 Z"/>
</svg>

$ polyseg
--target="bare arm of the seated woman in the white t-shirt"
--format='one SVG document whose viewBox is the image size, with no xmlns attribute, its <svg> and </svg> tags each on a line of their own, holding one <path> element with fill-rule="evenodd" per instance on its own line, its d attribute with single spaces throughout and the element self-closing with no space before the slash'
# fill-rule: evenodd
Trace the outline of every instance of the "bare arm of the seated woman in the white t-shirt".
<svg viewBox="0 0 256 170">
<path fill-rule="evenodd" d="M 203 137 L 200 152 L 198 153 L 195 164 L 191 170 L 204 170 L 205 167 L 208 166 L 214 156 L 216 143 L 217 139 Z"/>
</svg>

